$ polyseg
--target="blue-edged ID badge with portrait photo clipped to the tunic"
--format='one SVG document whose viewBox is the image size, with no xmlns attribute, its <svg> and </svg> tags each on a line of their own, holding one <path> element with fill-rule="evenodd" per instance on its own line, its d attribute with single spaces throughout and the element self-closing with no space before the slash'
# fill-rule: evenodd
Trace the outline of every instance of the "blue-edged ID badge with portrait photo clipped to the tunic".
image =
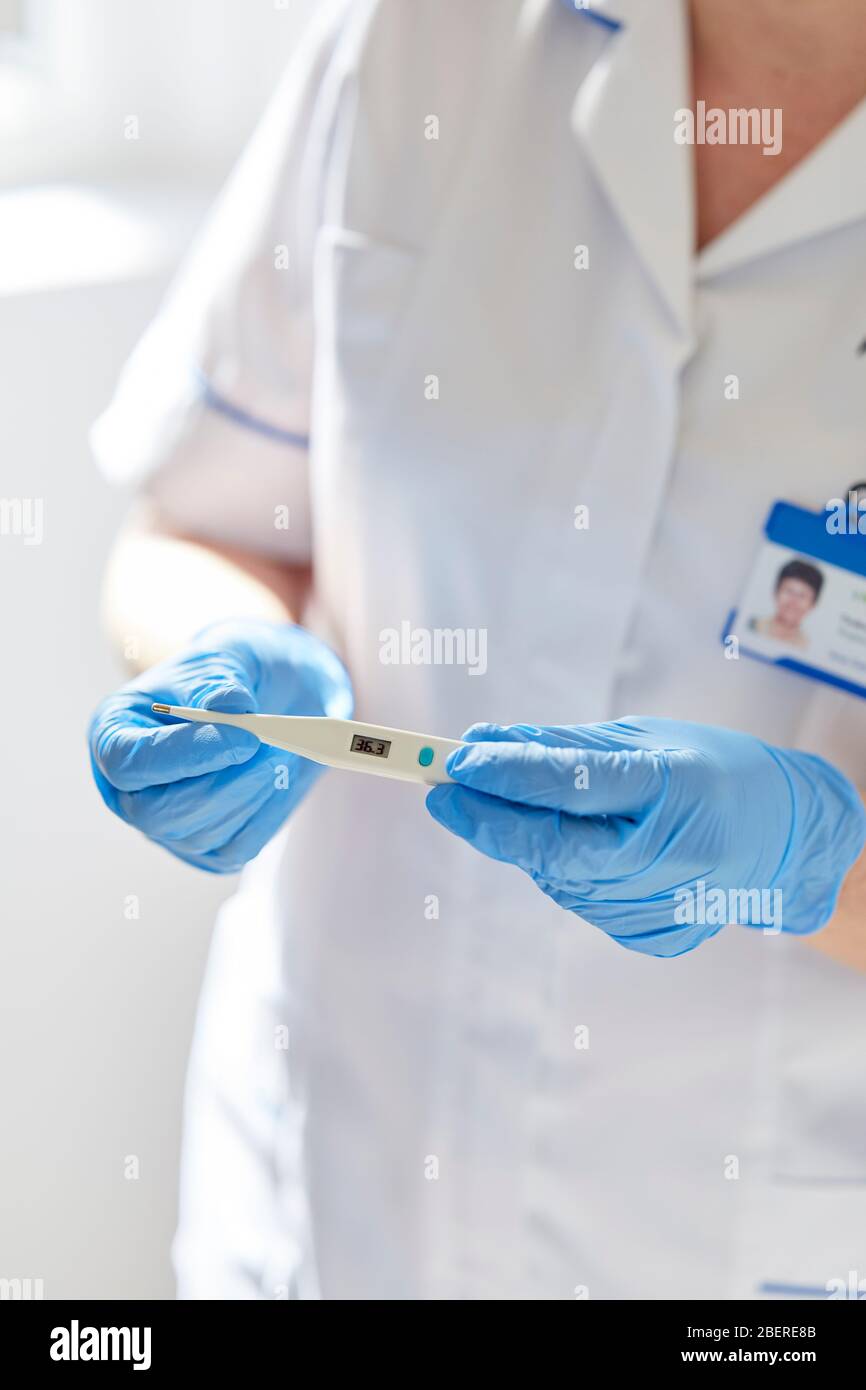
<svg viewBox="0 0 866 1390">
<path fill-rule="evenodd" d="M 848 518 L 776 502 L 723 641 L 866 696 L 866 537 Z"/>
</svg>

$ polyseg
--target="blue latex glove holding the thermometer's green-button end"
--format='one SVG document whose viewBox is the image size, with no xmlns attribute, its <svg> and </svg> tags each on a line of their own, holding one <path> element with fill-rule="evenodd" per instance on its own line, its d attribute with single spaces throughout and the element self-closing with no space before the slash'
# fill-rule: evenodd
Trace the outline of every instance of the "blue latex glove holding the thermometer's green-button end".
<svg viewBox="0 0 866 1390">
<path fill-rule="evenodd" d="M 674 956 L 726 923 L 817 931 L 866 838 L 823 758 L 670 719 L 475 724 L 427 805 L 631 951 Z M 703 920 L 701 920 L 703 919 Z"/>
</svg>

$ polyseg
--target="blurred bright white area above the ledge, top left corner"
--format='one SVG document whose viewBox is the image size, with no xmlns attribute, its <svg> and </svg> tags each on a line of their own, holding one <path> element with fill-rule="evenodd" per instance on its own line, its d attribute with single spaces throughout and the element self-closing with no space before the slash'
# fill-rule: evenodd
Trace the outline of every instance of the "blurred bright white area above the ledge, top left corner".
<svg viewBox="0 0 866 1390">
<path fill-rule="evenodd" d="M 0 57 L 4 183 L 221 175 L 314 8 L 314 0 L 22 3 L 19 61 Z M 129 117 L 136 139 L 126 138 Z"/>
</svg>

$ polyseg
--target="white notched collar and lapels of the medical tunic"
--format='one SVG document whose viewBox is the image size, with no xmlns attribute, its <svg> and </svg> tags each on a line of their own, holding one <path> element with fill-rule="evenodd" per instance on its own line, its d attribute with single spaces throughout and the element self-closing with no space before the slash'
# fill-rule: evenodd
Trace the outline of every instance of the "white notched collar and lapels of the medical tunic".
<svg viewBox="0 0 866 1390">
<path fill-rule="evenodd" d="M 735 265 L 866 218 L 866 101 L 727 231 L 695 253 L 694 150 L 673 138 L 691 104 L 687 0 L 557 0 L 603 35 L 571 124 L 677 327 L 694 286 Z M 606 31 L 606 32 L 605 32 Z"/>
</svg>

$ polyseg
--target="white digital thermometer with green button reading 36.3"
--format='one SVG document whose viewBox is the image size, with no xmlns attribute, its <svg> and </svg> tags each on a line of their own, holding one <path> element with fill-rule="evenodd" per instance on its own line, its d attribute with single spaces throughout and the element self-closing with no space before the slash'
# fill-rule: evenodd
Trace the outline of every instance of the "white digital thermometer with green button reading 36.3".
<svg viewBox="0 0 866 1390">
<path fill-rule="evenodd" d="M 428 738 L 405 728 L 360 724 L 354 719 L 307 717 L 303 714 L 227 714 L 218 709 L 186 705 L 152 705 L 154 714 L 172 714 L 196 724 L 231 724 L 245 728 L 263 744 L 285 748 L 327 767 L 356 773 L 377 773 L 402 781 L 452 781 L 445 759 L 463 744 L 455 738 Z"/>
</svg>

